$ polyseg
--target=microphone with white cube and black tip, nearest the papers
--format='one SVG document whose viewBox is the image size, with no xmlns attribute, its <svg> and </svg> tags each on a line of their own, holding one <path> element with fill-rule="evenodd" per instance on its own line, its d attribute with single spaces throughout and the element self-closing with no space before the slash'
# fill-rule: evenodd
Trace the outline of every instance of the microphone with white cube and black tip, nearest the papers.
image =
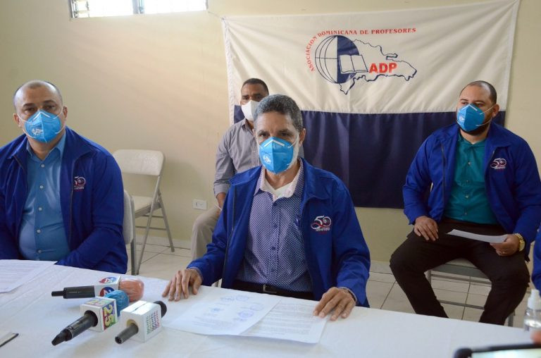
<svg viewBox="0 0 541 358">
<path fill-rule="evenodd" d="M 120 326 L 126 328 L 118 333 L 115 342 L 120 345 L 132 336 L 139 342 L 146 342 L 161 331 L 161 317 L 166 312 L 167 306 L 161 301 L 154 303 L 139 301 L 123 309 Z"/>
</svg>

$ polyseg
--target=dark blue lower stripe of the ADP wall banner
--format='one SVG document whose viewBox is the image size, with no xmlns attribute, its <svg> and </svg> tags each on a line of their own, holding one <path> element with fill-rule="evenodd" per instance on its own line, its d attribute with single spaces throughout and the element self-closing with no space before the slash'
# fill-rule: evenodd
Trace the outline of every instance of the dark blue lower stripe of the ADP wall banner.
<svg viewBox="0 0 541 358">
<path fill-rule="evenodd" d="M 302 111 L 304 158 L 335 173 L 355 206 L 404 207 L 402 186 L 413 157 L 438 128 L 454 123 L 455 112 L 356 114 Z M 235 122 L 244 116 L 235 106 Z M 505 111 L 495 122 L 503 124 Z"/>
</svg>

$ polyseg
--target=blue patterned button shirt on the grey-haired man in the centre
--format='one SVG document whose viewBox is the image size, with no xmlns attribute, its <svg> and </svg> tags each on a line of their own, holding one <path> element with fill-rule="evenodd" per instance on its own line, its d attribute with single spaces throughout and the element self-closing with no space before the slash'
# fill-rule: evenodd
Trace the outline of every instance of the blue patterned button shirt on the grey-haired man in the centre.
<svg viewBox="0 0 541 358">
<path fill-rule="evenodd" d="M 304 241 L 299 227 L 304 168 L 299 168 L 299 179 L 291 197 L 280 197 L 273 202 L 270 192 L 254 192 L 244 260 L 237 280 L 266 283 L 284 290 L 311 292 L 312 284 L 304 255 Z"/>
</svg>

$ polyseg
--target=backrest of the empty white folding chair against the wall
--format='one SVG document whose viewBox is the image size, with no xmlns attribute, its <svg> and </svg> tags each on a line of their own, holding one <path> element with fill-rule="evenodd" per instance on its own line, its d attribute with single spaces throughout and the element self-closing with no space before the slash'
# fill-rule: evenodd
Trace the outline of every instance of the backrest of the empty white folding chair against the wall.
<svg viewBox="0 0 541 358">
<path fill-rule="evenodd" d="M 162 152 L 143 149 L 118 149 L 113 157 L 122 173 L 143 175 L 160 175 L 165 160 Z"/>
</svg>

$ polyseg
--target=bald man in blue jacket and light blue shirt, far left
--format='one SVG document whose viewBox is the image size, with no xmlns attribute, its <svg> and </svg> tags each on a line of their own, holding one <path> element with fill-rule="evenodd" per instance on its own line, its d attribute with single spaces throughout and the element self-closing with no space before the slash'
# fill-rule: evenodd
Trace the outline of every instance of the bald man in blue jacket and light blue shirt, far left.
<svg viewBox="0 0 541 358">
<path fill-rule="evenodd" d="M 24 135 L 0 148 L 0 259 L 125 273 L 120 168 L 66 128 L 58 88 L 32 80 L 13 97 Z"/>
</svg>

